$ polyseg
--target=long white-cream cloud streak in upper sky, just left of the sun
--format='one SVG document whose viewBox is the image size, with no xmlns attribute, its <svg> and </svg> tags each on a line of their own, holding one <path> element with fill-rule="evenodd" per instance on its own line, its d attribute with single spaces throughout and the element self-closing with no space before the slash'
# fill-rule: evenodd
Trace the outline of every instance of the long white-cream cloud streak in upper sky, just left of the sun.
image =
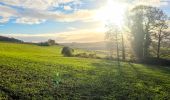
<svg viewBox="0 0 170 100">
<path fill-rule="evenodd" d="M 53 20 L 53 21 L 60 21 L 60 22 L 73 22 L 73 21 L 84 21 L 92 19 L 94 16 L 95 11 L 93 10 L 79 10 L 71 14 L 62 14 L 59 12 L 49 12 L 49 11 L 40 11 L 40 10 L 27 10 L 21 12 L 18 17 L 19 19 L 24 19 L 27 21 L 31 21 L 33 19 L 39 20 Z M 21 21 L 19 21 L 21 22 Z"/>
</svg>

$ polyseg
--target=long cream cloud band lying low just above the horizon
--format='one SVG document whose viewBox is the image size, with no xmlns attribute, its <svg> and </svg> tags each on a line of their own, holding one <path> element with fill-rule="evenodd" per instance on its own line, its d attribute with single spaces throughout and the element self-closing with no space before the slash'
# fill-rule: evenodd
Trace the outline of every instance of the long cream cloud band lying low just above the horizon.
<svg viewBox="0 0 170 100">
<path fill-rule="evenodd" d="M 18 38 L 27 42 L 42 42 L 54 39 L 63 42 L 98 42 L 104 40 L 104 32 L 99 30 L 73 30 L 61 33 L 47 34 L 3 34 L 4 36 Z"/>
</svg>

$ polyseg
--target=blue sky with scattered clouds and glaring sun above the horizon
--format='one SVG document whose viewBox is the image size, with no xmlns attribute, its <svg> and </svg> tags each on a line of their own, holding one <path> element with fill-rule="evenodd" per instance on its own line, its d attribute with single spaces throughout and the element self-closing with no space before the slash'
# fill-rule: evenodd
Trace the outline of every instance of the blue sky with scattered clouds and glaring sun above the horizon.
<svg viewBox="0 0 170 100">
<path fill-rule="evenodd" d="M 104 41 L 108 16 L 120 25 L 123 11 L 139 4 L 170 15 L 170 0 L 0 0 L 0 35 L 26 42 Z"/>
</svg>

